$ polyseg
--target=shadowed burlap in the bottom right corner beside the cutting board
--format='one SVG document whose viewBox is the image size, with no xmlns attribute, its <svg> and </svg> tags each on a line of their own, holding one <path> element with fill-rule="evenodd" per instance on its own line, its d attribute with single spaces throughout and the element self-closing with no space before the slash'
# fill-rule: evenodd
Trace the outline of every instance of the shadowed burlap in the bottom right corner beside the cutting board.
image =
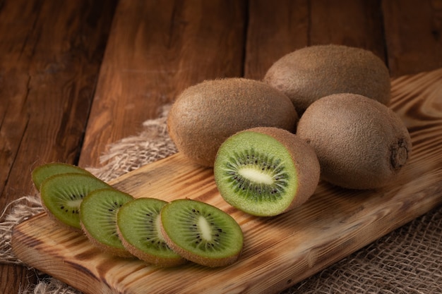
<svg viewBox="0 0 442 294">
<path fill-rule="evenodd" d="M 300 293 L 442 293 L 442 207 L 281 294 Z"/>
</svg>

